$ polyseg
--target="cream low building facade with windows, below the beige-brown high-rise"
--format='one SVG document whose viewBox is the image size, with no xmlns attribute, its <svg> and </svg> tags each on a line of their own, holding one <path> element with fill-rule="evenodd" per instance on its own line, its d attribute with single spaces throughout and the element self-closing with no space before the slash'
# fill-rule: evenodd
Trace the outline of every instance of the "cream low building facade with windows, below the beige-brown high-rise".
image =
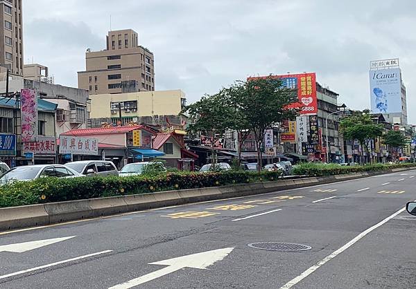
<svg viewBox="0 0 416 289">
<path fill-rule="evenodd" d="M 186 105 L 185 93 L 181 90 L 145 91 L 138 93 L 119 93 L 90 95 L 93 127 L 101 122 L 157 123 L 166 115 L 177 116 Z M 96 124 L 94 125 L 94 120 Z"/>
</svg>

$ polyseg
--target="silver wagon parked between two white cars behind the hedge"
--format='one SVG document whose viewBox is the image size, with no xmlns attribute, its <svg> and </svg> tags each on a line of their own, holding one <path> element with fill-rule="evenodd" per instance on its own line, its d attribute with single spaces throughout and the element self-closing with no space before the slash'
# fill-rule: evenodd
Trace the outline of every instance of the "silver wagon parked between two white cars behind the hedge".
<svg viewBox="0 0 416 289">
<path fill-rule="evenodd" d="M 80 160 L 65 165 L 83 176 L 119 176 L 116 166 L 107 160 Z"/>
</svg>

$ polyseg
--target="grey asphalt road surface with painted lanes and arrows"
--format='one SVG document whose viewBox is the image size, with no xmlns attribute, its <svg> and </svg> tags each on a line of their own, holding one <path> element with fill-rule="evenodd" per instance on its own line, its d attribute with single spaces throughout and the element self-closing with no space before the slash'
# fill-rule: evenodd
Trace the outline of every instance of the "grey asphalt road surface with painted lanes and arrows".
<svg viewBox="0 0 416 289">
<path fill-rule="evenodd" d="M 115 288 L 414 288 L 416 216 L 399 210 L 416 200 L 415 177 L 406 171 L 0 233 L 0 288 L 130 280 Z M 248 246 L 264 241 L 311 249 Z"/>
</svg>

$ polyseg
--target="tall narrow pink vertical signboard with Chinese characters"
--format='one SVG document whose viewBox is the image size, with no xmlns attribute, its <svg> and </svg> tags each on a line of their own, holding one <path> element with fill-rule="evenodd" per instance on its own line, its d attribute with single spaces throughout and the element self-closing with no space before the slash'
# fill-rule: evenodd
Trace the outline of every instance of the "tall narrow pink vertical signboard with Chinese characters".
<svg viewBox="0 0 416 289">
<path fill-rule="evenodd" d="M 21 142 L 37 136 L 37 97 L 35 89 L 21 89 Z"/>
</svg>

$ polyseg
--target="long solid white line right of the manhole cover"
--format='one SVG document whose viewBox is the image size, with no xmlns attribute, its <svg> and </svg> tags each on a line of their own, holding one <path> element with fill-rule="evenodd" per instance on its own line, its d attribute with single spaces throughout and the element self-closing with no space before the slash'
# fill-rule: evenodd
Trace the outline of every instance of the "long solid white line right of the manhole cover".
<svg viewBox="0 0 416 289">
<path fill-rule="evenodd" d="M 308 277 L 310 274 L 312 274 L 313 272 L 315 272 L 315 270 L 318 270 L 318 268 L 320 268 L 322 265 L 324 265 L 324 263 L 327 263 L 328 261 L 331 261 L 331 259 L 337 257 L 338 254 L 341 254 L 342 252 L 344 252 L 345 250 L 347 250 L 349 247 L 351 247 L 352 245 L 354 245 L 356 242 L 358 242 L 361 238 L 363 238 L 363 236 L 367 235 L 368 233 L 372 232 L 373 230 L 376 230 L 376 228 L 378 228 L 381 225 L 387 223 L 388 221 L 390 221 L 390 219 L 395 218 L 395 216 L 397 216 L 401 212 L 404 212 L 405 209 L 406 209 L 406 207 L 404 207 L 402 209 L 399 209 L 399 211 L 395 212 L 395 214 L 392 214 L 391 216 L 388 216 L 383 221 L 381 221 L 381 222 L 377 223 L 376 225 L 368 228 L 367 230 L 365 230 L 361 234 L 358 234 L 358 236 L 356 236 L 354 239 L 352 239 L 351 241 L 349 241 L 348 243 L 346 243 L 345 245 L 343 245 L 343 247 L 341 247 L 338 250 L 332 252 L 327 257 L 325 257 L 324 259 L 322 259 L 321 261 L 319 261 L 318 263 L 316 263 L 315 265 L 313 265 L 311 268 L 306 269 L 306 271 L 304 271 L 302 274 L 300 274 L 299 276 L 293 278 L 291 281 L 288 281 L 288 283 L 286 283 L 284 286 L 281 286 L 280 289 L 289 289 L 289 288 L 292 288 L 297 283 L 299 283 L 300 281 L 302 281 L 304 278 Z"/>
</svg>

